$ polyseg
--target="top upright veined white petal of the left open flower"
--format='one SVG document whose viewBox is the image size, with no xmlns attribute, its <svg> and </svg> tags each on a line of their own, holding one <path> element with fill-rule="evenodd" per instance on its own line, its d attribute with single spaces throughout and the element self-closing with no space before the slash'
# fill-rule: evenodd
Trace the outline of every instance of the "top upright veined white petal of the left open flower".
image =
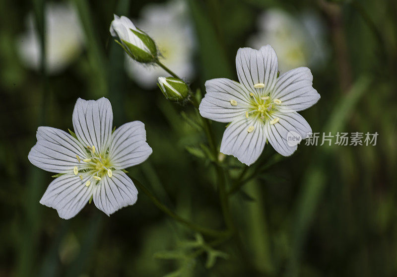
<svg viewBox="0 0 397 277">
<path fill-rule="evenodd" d="M 95 146 L 102 153 L 109 145 L 113 124 L 112 105 L 102 97 L 98 100 L 77 99 L 73 110 L 73 128 L 77 138 Z"/>
</svg>

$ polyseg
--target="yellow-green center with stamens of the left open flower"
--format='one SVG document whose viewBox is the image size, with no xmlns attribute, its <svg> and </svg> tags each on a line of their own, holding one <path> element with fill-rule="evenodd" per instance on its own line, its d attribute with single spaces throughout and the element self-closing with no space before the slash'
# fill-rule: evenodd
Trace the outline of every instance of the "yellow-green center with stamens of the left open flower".
<svg viewBox="0 0 397 277">
<path fill-rule="evenodd" d="M 107 150 L 105 153 L 101 154 L 98 153 L 98 151 L 95 151 L 94 145 L 87 145 L 86 148 L 87 158 L 83 159 L 79 156 L 76 156 L 77 161 L 81 164 L 81 166 L 75 166 L 73 168 L 73 173 L 74 175 L 79 175 L 81 180 L 83 180 L 82 174 L 88 174 L 90 178 L 85 183 L 85 185 L 88 187 L 91 184 L 91 181 L 93 181 L 92 179 L 94 179 L 94 182 L 97 183 L 105 176 L 105 174 L 107 174 L 109 177 L 112 177 L 112 170 L 114 170 L 114 168 L 112 167 L 112 164 L 109 160 L 109 152 Z"/>
</svg>

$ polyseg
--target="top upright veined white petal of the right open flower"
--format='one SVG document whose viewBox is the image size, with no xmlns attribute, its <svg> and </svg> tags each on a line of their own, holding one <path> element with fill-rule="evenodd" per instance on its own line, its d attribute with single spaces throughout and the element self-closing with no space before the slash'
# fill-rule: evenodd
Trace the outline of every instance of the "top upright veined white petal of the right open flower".
<svg viewBox="0 0 397 277">
<path fill-rule="evenodd" d="M 254 93 L 269 91 L 277 78 L 277 55 L 270 45 L 260 50 L 240 48 L 236 55 L 236 68 L 240 83 L 247 89 Z M 264 87 L 255 88 L 254 85 L 258 83 L 264 84 Z"/>
</svg>

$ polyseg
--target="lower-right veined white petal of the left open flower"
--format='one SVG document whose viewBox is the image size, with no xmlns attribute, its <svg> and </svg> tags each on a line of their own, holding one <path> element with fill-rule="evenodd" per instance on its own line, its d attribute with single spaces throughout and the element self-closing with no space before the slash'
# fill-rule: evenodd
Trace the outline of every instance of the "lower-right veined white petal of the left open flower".
<svg viewBox="0 0 397 277">
<path fill-rule="evenodd" d="M 138 198 L 132 180 L 121 170 L 114 170 L 110 178 L 105 175 L 93 189 L 95 206 L 107 215 L 135 204 Z"/>
</svg>

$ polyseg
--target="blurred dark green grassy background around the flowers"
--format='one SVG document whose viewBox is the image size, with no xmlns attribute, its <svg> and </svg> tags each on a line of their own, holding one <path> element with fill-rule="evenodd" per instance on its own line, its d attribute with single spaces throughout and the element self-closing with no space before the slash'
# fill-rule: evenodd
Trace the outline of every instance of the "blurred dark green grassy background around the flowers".
<svg viewBox="0 0 397 277">
<path fill-rule="evenodd" d="M 184 218 L 224 228 L 214 169 L 199 150 L 206 140 L 190 122 L 199 120 L 195 110 L 167 101 L 156 88 L 138 86 L 109 34 L 113 13 L 139 18 L 148 2 L 72 1 L 84 47 L 52 73 L 26 67 L 17 46 L 29 13 L 42 41 L 47 1 L 0 0 L 0 276 L 397 276 L 394 0 L 187 0 L 196 45 L 193 88 L 203 89 L 209 78 L 237 79 L 237 49 L 260 34 L 261 14 L 277 8 L 297 17 L 310 10 L 319 19 L 312 26 L 322 22 L 327 54 L 321 66 L 306 65 L 321 99 L 302 115 L 314 132 L 379 133 L 376 146 L 301 143 L 274 164 L 275 151 L 265 146 L 247 172 L 255 177 L 230 197 L 240 240 L 214 247 L 227 255 L 211 268 L 209 254 L 196 255 L 187 243 L 195 232 L 164 215 L 141 191 L 134 206 L 110 217 L 91 204 L 66 221 L 39 204 L 52 174 L 27 159 L 37 127 L 71 129 L 78 97 L 105 96 L 114 125 L 144 122 L 153 148 L 130 175 Z M 66 40 L 62 33 L 60 39 Z M 211 125 L 219 147 L 225 125 Z M 233 157 L 224 164 L 230 186 L 243 165 Z"/>
</svg>

